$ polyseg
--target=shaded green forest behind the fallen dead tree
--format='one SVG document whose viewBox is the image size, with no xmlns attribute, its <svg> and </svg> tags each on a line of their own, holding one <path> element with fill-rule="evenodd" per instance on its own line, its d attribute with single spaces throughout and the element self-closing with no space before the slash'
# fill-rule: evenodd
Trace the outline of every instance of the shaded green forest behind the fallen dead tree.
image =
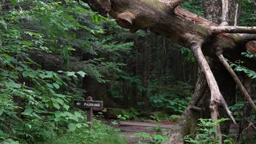
<svg viewBox="0 0 256 144">
<path fill-rule="evenodd" d="M 240 26 L 256 25 L 254 6 L 240 2 Z M 202 1 L 181 7 L 203 16 Z M 80 133 L 88 123 L 73 100 L 89 95 L 103 100 L 104 107 L 130 109 L 130 118 L 155 111 L 181 115 L 190 100 L 200 70 L 189 49 L 167 38 L 147 31 L 131 34 L 81 1 L 9 0 L 1 1 L 0 9 L 2 142 L 44 143 Z M 234 65 L 246 72 L 241 61 Z M 256 78 L 255 72 L 249 76 Z M 252 95 L 255 88 L 254 80 Z M 243 104 L 238 98 L 231 107 L 237 116 Z M 80 136 L 106 141 L 112 129 L 96 123 L 94 131 Z"/>
</svg>

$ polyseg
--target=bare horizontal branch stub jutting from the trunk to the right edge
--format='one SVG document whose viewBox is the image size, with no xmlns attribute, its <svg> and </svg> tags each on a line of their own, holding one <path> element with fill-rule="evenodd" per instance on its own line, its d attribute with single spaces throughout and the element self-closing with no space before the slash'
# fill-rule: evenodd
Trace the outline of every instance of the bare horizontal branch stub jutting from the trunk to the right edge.
<svg viewBox="0 0 256 144">
<path fill-rule="evenodd" d="M 235 27 L 235 26 L 210 26 L 208 28 L 209 33 L 252 33 L 256 34 L 256 27 Z"/>
</svg>

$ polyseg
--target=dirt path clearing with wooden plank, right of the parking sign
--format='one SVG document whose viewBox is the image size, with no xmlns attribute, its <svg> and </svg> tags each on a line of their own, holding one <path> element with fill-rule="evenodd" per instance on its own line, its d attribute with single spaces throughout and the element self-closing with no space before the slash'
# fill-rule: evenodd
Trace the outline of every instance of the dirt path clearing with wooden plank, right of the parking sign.
<svg viewBox="0 0 256 144">
<path fill-rule="evenodd" d="M 116 121 L 118 124 L 114 125 L 112 122 Z M 135 133 L 148 133 L 149 135 L 160 134 L 166 135 L 167 131 L 175 124 L 171 121 L 161 121 L 158 124 L 153 122 L 135 122 L 135 121 L 126 121 L 121 122 L 116 119 L 106 119 L 106 124 L 110 127 L 120 129 L 118 132 L 121 135 L 124 135 L 129 139 L 128 143 L 133 144 L 138 141 L 141 142 L 150 142 L 150 139 L 142 139 L 142 137 L 136 138 Z M 139 126 L 140 125 L 140 126 Z M 159 131 L 159 132 L 156 132 Z"/>
</svg>

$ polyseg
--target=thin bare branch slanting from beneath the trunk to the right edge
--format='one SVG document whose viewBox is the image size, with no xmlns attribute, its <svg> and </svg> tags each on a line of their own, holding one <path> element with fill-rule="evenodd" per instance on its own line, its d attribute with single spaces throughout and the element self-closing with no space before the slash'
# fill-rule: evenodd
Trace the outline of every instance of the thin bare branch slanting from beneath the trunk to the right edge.
<svg viewBox="0 0 256 144">
<path fill-rule="evenodd" d="M 217 53 L 217 56 L 219 58 L 219 61 L 222 62 L 222 64 L 224 65 L 224 67 L 226 68 L 226 70 L 229 71 L 230 75 L 232 76 L 232 78 L 234 79 L 234 81 L 236 82 L 236 85 L 238 86 L 238 88 L 241 90 L 242 94 L 245 96 L 246 100 L 248 101 L 249 105 L 251 105 L 252 109 L 254 110 L 254 112 L 256 113 L 256 106 L 253 102 L 253 100 L 251 99 L 250 95 L 248 94 L 248 92 L 246 91 L 245 87 L 243 86 L 242 82 L 239 80 L 238 76 L 235 74 L 234 70 L 230 68 L 230 65 L 228 62 L 226 62 L 224 59 L 224 56 L 222 55 L 222 53 Z"/>
</svg>

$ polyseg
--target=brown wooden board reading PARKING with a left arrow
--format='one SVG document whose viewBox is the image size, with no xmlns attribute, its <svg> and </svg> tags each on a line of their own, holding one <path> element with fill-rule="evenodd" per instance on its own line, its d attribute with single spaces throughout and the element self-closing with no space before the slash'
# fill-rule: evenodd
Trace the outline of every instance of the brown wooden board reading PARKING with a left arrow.
<svg viewBox="0 0 256 144">
<path fill-rule="evenodd" d="M 83 109 L 103 109 L 103 101 L 74 100 L 74 105 Z"/>
</svg>

